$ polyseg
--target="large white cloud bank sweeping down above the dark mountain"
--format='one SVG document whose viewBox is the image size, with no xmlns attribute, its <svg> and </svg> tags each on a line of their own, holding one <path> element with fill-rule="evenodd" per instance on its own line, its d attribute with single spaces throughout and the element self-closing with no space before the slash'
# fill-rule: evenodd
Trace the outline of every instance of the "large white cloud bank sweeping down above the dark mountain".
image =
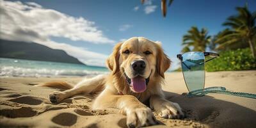
<svg viewBox="0 0 256 128">
<path fill-rule="evenodd" d="M 51 36 L 56 36 L 93 44 L 113 44 L 115 41 L 104 36 L 95 22 L 46 9 L 33 2 L 0 0 L 0 3 L 0 38 L 36 42 L 64 50 L 88 65 L 105 65 L 108 57 L 105 54 L 51 40 Z"/>
</svg>

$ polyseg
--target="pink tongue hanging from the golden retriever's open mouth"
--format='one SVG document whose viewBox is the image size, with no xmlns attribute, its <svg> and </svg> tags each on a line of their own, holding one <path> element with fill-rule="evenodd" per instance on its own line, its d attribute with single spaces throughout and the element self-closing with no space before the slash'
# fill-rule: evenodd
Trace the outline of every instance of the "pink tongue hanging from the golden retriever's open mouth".
<svg viewBox="0 0 256 128">
<path fill-rule="evenodd" d="M 132 89 L 137 92 L 144 92 L 147 88 L 145 78 L 137 76 L 131 79 Z"/>
</svg>

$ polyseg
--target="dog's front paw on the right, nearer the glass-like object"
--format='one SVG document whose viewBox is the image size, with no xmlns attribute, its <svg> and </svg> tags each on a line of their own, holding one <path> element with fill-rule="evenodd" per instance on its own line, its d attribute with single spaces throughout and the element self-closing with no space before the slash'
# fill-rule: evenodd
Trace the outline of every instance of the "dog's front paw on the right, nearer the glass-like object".
<svg viewBox="0 0 256 128">
<path fill-rule="evenodd" d="M 176 102 L 163 102 L 163 104 L 161 105 L 161 110 L 159 112 L 159 114 L 163 118 L 184 118 L 184 113 L 182 112 L 179 104 L 177 104 Z"/>
</svg>

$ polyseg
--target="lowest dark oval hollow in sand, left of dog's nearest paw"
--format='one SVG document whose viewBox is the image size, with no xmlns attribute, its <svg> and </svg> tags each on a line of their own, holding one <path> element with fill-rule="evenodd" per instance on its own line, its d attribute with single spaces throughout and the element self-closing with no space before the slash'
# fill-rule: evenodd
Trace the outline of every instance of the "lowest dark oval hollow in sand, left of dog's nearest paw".
<svg viewBox="0 0 256 128">
<path fill-rule="evenodd" d="M 72 113 L 60 113 L 52 118 L 52 122 L 63 126 L 71 126 L 76 124 L 77 115 Z"/>
</svg>

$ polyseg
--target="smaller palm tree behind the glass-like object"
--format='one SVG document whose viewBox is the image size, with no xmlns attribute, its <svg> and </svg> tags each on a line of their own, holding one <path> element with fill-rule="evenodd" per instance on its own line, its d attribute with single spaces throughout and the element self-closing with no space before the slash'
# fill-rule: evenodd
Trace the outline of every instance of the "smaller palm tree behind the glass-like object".
<svg viewBox="0 0 256 128">
<path fill-rule="evenodd" d="M 208 35 L 208 31 L 202 28 L 201 31 L 195 26 L 189 29 L 188 33 L 183 36 L 182 45 L 184 51 L 190 51 L 189 47 L 193 48 L 191 51 L 205 51 L 205 48 L 211 42 L 211 36 Z"/>
</svg>

